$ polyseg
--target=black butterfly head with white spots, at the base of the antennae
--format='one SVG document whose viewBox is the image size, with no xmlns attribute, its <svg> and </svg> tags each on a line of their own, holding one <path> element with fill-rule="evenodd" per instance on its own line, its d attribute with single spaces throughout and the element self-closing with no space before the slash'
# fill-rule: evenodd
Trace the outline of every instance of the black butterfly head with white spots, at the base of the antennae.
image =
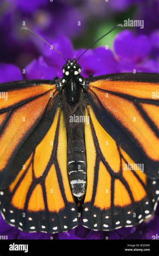
<svg viewBox="0 0 159 256">
<path fill-rule="evenodd" d="M 68 60 L 66 64 L 62 67 L 63 76 L 78 76 L 81 75 L 81 66 L 76 63 L 76 60 Z"/>
</svg>

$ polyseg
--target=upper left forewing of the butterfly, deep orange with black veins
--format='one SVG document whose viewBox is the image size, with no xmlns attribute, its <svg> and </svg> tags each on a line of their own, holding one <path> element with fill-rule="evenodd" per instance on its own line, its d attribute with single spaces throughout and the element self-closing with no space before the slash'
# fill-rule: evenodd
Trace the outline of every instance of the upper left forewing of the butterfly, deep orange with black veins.
<svg viewBox="0 0 159 256">
<path fill-rule="evenodd" d="M 20 81 L 0 85 L 0 91 L 7 96 L 0 99 L 1 189 L 14 180 L 51 125 L 58 95 L 55 85 L 47 82 Z"/>
</svg>

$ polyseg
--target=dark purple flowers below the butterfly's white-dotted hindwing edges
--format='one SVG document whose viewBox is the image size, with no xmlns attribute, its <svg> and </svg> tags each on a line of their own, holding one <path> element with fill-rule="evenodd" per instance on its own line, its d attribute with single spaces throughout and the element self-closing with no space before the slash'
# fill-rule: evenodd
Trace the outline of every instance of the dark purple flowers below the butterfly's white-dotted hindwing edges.
<svg viewBox="0 0 159 256">
<path fill-rule="evenodd" d="M 159 231 L 159 205 L 151 219 L 134 227 L 122 227 L 114 231 L 92 231 L 81 224 L 71 231 L 58 234 L 25 233 L 6 224 L 0 215 L 0 235 L 8 239 L 154 239 Z"/>
</svg>

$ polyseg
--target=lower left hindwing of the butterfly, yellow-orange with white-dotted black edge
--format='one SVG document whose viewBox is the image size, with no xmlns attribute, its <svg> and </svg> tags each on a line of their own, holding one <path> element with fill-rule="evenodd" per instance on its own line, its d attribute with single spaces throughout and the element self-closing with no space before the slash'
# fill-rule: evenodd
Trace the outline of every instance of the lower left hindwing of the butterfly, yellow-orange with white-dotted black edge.
<svg viewBox="0 0 159 256">
<path fill-rule="evenodd" d="M 5 220 L 26 232 L 64 232 L 80 222 L 67 175 L 67 137 L 60 109 L 9 188 L 0 192 Z"/>
</svg>

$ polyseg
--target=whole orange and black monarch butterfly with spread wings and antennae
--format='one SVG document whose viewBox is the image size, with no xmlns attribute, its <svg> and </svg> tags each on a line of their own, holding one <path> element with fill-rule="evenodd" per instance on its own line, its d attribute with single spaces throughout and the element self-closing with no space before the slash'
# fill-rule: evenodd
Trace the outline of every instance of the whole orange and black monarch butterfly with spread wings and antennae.
<svg viewBox="0 0 159 256">
<path fill-rule="evenodd" d="M 157 205 L 159 75 L 85 79 L 78 59 L 65 59 L 61 79 L 0 85 L 0 210 L 25 232 L 76 227 L 81 200 L 83 226 L 102 231 Z"/>
</svg>

